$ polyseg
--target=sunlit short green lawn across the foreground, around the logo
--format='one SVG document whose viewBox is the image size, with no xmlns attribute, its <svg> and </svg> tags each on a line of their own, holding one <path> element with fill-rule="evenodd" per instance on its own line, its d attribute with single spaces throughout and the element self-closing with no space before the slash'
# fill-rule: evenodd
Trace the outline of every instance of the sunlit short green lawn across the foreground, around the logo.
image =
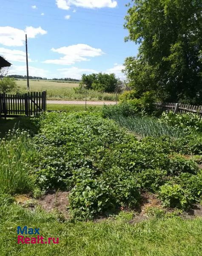
<svg viewBox="0 0 202 256">
<path fill-rule="evenodd" d="M 1 213 L 1 256 L 200 256 L 202 252 L 202 218 L 74 224 L 18 205 L 6 207 Z M 17 226 L 25 225 L 40 228 L 45 241 L 59 237 L 59 244 L 17 244 Z"/>
</svg>

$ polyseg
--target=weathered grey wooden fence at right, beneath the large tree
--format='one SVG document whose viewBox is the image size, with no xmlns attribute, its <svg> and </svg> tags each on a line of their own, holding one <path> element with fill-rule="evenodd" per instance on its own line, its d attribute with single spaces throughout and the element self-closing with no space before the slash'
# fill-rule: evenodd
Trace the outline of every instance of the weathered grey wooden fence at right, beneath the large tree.
<svg viewBox="0 0 202 256">
<path fill-rule="evenodd" d="M 155 102 L 156 109 L 160 111 L 173 111 L 174 113 L 196 113 L 202 118 L 202 106 L 182 103 Z"/>
</svg>

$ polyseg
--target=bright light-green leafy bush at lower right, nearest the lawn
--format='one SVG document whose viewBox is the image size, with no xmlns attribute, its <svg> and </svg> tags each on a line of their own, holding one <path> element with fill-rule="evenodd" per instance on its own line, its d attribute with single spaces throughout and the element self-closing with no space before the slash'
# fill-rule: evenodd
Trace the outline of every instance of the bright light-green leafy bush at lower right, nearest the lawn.
<svg viewBox="0 0 202 256">
<path fill-rule="evenodd" d="M 188 209 L 194 201 L 188 189 L 182 189 L 178 184 L 165 184 L 160 187 L 159 198 L 165 207 Z"/>
</svg>

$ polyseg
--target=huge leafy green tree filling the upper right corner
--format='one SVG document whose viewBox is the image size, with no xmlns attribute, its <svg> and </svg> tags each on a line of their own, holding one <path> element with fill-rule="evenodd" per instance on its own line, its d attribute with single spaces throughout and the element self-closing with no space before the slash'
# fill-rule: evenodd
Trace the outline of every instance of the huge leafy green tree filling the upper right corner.
<svg viewBox="0 0 202 256">
<path fill-rule="evenodd" d="M 201 12 L 201 0 L 132 0 L 125 41 L 140 46 L 125 60 L 131 87 L 164 101 L 202 103 Z"/>
</svg>

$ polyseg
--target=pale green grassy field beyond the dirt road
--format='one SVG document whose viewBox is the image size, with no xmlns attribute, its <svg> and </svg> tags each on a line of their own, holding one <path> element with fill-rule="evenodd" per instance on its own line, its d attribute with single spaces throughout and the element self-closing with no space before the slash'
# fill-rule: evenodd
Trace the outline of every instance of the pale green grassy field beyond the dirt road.
<svg viewBox="0 0 202 256">
<path fill-rule="evenodd" d="M 27 92 L 27 81 L 17 80 L 17 86 L 20 87 L 22 93 Z M 47 91 L 47 99 L 49 100 L 85 100 L 84 93 L 76 93 L 74 88 L 79 87 L 78 83 L 74 82 L 57 82 L 46 80 L 30 80 L 30 91 L 40 92 Z M 88 100 L 112 100 L 115 101 L 114 93 L 100 93 L 94 90 L 88 90 Z"/>
</svg>

